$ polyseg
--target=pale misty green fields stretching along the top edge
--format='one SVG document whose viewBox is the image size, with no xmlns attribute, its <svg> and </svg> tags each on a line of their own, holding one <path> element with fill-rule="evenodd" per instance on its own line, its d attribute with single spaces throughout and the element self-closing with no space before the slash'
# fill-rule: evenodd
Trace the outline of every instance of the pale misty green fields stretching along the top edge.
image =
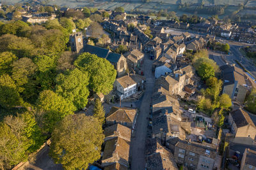
<svg viewBox="0 0 256 170">
<path fill-rule="evenodd" d="M 25 0 L 22 0 L 25 1 Z M 20 0 L 3 0 L 2 3 L 6 4 L 14 4 L 22 2 Z M 220 18 L 223 18 L 227 15 L 231 15 L 233 11 L 237 10 L 237 5 L 239 3 L 244 3 L 246 0 L 204 0 L 204 4 L 228 4 L 229 6 L 225 9 L 225 14 L 221 15 Z M 132 0 L 132 1 L 120 1 L 120 2 L 111 2 L 111 1 L 92 1 L 92 0 L 49 0 L 49 4 L 57 4 L 59 6 L 68 6 L 70 8 L 76 8 L 81 6 L 88 6 L 98 9 L 106 9 L 106 10 L 114 10 L 118 6 L 124 7 L 125 11 L 159 11 L 159 10 L 168 10 L 168 11 L 175 11 L 178 16 L 186 13 L 187 15 L 193 15 L 194 13 L 188 13 L 182 10 L 179 10 L 179 4 L 182 3 L 202 3 L 202 0 L 152 0 L 150 3 L 141 3 L 141 0 Z M 252 7 L 256 6 L 256 0 L 248 1 L 245 6 Z M 239 14 L 244 15 L 246 13 L 256 13 L 255 10 L 242 10 Z M 211 15 L 207 14 L 198 14 L 202 17 L 210 17 Z"/>
</svg>

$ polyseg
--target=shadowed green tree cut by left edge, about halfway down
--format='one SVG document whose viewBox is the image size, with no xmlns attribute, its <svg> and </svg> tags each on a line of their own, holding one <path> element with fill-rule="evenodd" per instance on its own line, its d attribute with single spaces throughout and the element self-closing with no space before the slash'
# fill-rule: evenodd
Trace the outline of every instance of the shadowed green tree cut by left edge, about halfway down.
<svg viewBox="0 0 256 170">
<path fill-rule="evenodd" d="M 23 103 L 17 87 L 8 74 L 0 76 L 0 105 L 3 108 L 12 108 Z"/>
</svg>

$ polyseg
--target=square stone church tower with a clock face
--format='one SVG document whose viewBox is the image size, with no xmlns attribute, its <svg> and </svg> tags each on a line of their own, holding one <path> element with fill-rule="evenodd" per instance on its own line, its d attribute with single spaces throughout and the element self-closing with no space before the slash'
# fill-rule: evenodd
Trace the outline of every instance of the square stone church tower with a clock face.
<svg viewBox="0 0 256 170">
<path fill-rule="evenodd" d="M 83 34 L 82 32 L 74 32 L 69 37 L 71 51 L 81 53 L 83 52 Z"/>
</svg>

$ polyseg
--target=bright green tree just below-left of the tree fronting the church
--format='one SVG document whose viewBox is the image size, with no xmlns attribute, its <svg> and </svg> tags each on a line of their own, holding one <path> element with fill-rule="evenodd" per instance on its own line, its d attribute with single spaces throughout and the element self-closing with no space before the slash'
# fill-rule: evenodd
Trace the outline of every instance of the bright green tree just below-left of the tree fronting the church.
<svg viewBox="0 0 256 170">
<path fill-rule="evenodd" d="M 79 69 L 59 74 L 56 78 L 56 92 L 63 96 L 67 101 L 71 101 L 77 110 L 84 108 L 88 103 L 89 96 L 89 76 L 88 73 Z"/>
</svg>

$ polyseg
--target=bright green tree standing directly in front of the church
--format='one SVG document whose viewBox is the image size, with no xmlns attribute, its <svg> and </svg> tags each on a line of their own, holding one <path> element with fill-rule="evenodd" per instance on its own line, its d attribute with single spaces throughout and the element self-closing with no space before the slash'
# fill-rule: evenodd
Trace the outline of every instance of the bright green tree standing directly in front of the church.
<svg viewBox="0 0 256 170">
<path fill-rule="evenodd" d="M 74 62 L 81 71 L 86 71 L 90 76 L 90 89 L 94 92 L 108 94 L 113 89 L 116 79 L 115 67 L 106 59 L 90 53 L 79 55 Z"/>
</svg>

